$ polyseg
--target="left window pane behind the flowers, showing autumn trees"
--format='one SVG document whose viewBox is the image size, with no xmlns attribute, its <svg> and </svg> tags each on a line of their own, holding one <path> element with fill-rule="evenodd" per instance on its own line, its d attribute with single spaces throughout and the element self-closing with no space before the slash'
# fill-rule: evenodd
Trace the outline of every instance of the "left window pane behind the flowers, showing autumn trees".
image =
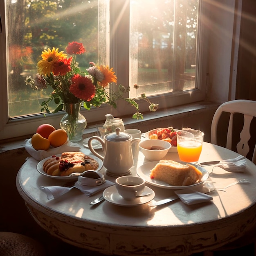
<svg viewBox="0 0 256 256">
<path fill-rule="evenodd" d="M 98 63 L 98 16 L 98 0 L 7 0 L 10 117 L 39 113 L 49 98 L 51 88 L 34 91 L 24 82 L 36 74 L 44 49 L 65 51 L 69 42 L 77 41 L 86 49 L 76 58 L 81 70 L 90 61 Z"/>
</svg>

